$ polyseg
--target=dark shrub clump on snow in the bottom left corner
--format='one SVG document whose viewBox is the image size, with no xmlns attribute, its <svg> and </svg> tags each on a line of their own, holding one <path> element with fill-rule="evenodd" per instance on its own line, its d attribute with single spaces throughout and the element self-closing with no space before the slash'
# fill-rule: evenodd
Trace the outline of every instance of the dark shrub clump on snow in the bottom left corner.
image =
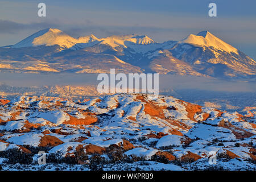
<svg viewBox="0 0 256 182">
<path fill-rule="evenodd" d="M 9 149 L 0 152 L 1 158 L 7 158 L 7 164 L 31 164 L 33 159 L 33 154 L 27 154 L 20 151 L 18 148 Z"/>
</svg>

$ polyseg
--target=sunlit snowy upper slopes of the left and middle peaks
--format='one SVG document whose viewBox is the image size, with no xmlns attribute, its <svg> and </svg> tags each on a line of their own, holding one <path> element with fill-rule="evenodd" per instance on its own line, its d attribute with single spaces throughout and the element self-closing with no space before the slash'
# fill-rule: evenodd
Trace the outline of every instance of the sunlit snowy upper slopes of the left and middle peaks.
<svg viewBox="0 0 256 182">
<path fill-rule="evenodd" d="M 57 29 L 57 28 L 47 28 L 45 30 L 41 30 L 36 32 L 35 34 L 28 36 L 28 38 L 23 39 L 22 41 L 16 43 L 13 48 L 20 47 L 32 47 L 32 46 L 54 46 L 59 45 L 64 48 L 84 48 L 88 47 L 87 44 L 92 46 L 93 43 L 97 44 L 108 44 L 109 46 L 115 47 L 126 47 L 125 44 L 133 43 L 133 44 L 151 44 L 154 41 L 147 36 L 138 36 L 138 35 L 124 35 L 124 36 L 110 36 L 107 38 L 98 39 L 94 35 L 90 36 L 81 36 L 79 38 L 72 38 L 65 32 Z M 79 44 L 76 46 L 76 44 Z M 127 48 L 127 47 L 126 47 Z"/>
</svg>

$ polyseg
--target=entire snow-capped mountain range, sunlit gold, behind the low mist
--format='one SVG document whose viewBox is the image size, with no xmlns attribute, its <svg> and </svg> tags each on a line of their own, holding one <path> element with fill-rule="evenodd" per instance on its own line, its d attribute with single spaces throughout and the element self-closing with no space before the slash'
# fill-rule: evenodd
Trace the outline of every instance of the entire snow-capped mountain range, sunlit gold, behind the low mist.
<svg viewBox="0 0 256 182">
<path fill-rule="evenodd" d="M 157 72 L 221 78 L 253 78 L 256 62 L 208 31 L 180 41 L 146 35 L 72 38 L 56 28 L 0 48 L 0 69 L 15 72 Z M 18 61 L 18 62 L 17 62 Z"/>
</svg>

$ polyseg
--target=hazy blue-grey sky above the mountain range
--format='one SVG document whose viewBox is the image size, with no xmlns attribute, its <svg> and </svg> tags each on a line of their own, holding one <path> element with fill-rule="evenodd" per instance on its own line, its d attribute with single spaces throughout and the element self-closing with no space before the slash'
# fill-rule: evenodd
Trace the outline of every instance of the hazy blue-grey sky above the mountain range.
<svg viewBox="0 0 256 182">
<path fill-rule="evenodd" d="M 46 3 L 46 17 L 38 16 L 40 2 Z M 208 15 L 211 2 L 217 17 Z M 255 9 L 255 0 L 1 0 L 0 46 L 49 27 L 73 37 L 138 34 L 156 42 L 208 30 L 256 60 Z"/>
</svg>

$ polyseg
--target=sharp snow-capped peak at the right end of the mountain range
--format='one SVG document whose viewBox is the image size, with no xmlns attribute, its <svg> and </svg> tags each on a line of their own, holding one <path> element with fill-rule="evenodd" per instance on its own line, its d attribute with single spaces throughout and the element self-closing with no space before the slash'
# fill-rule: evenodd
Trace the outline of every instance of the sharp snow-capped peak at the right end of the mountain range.
<svg viewBox="0 0 256 182">
<path fill-rule="evenodd" d="M 177 59 L 191 63 L 197 71 L 213 77 L 219 75 L 220 67 L 225 69 L 222 77 L 250 76 L 256 71 L 256 61 L 208 31 L 189 35 L 171 52 Z"/>
</svg>

